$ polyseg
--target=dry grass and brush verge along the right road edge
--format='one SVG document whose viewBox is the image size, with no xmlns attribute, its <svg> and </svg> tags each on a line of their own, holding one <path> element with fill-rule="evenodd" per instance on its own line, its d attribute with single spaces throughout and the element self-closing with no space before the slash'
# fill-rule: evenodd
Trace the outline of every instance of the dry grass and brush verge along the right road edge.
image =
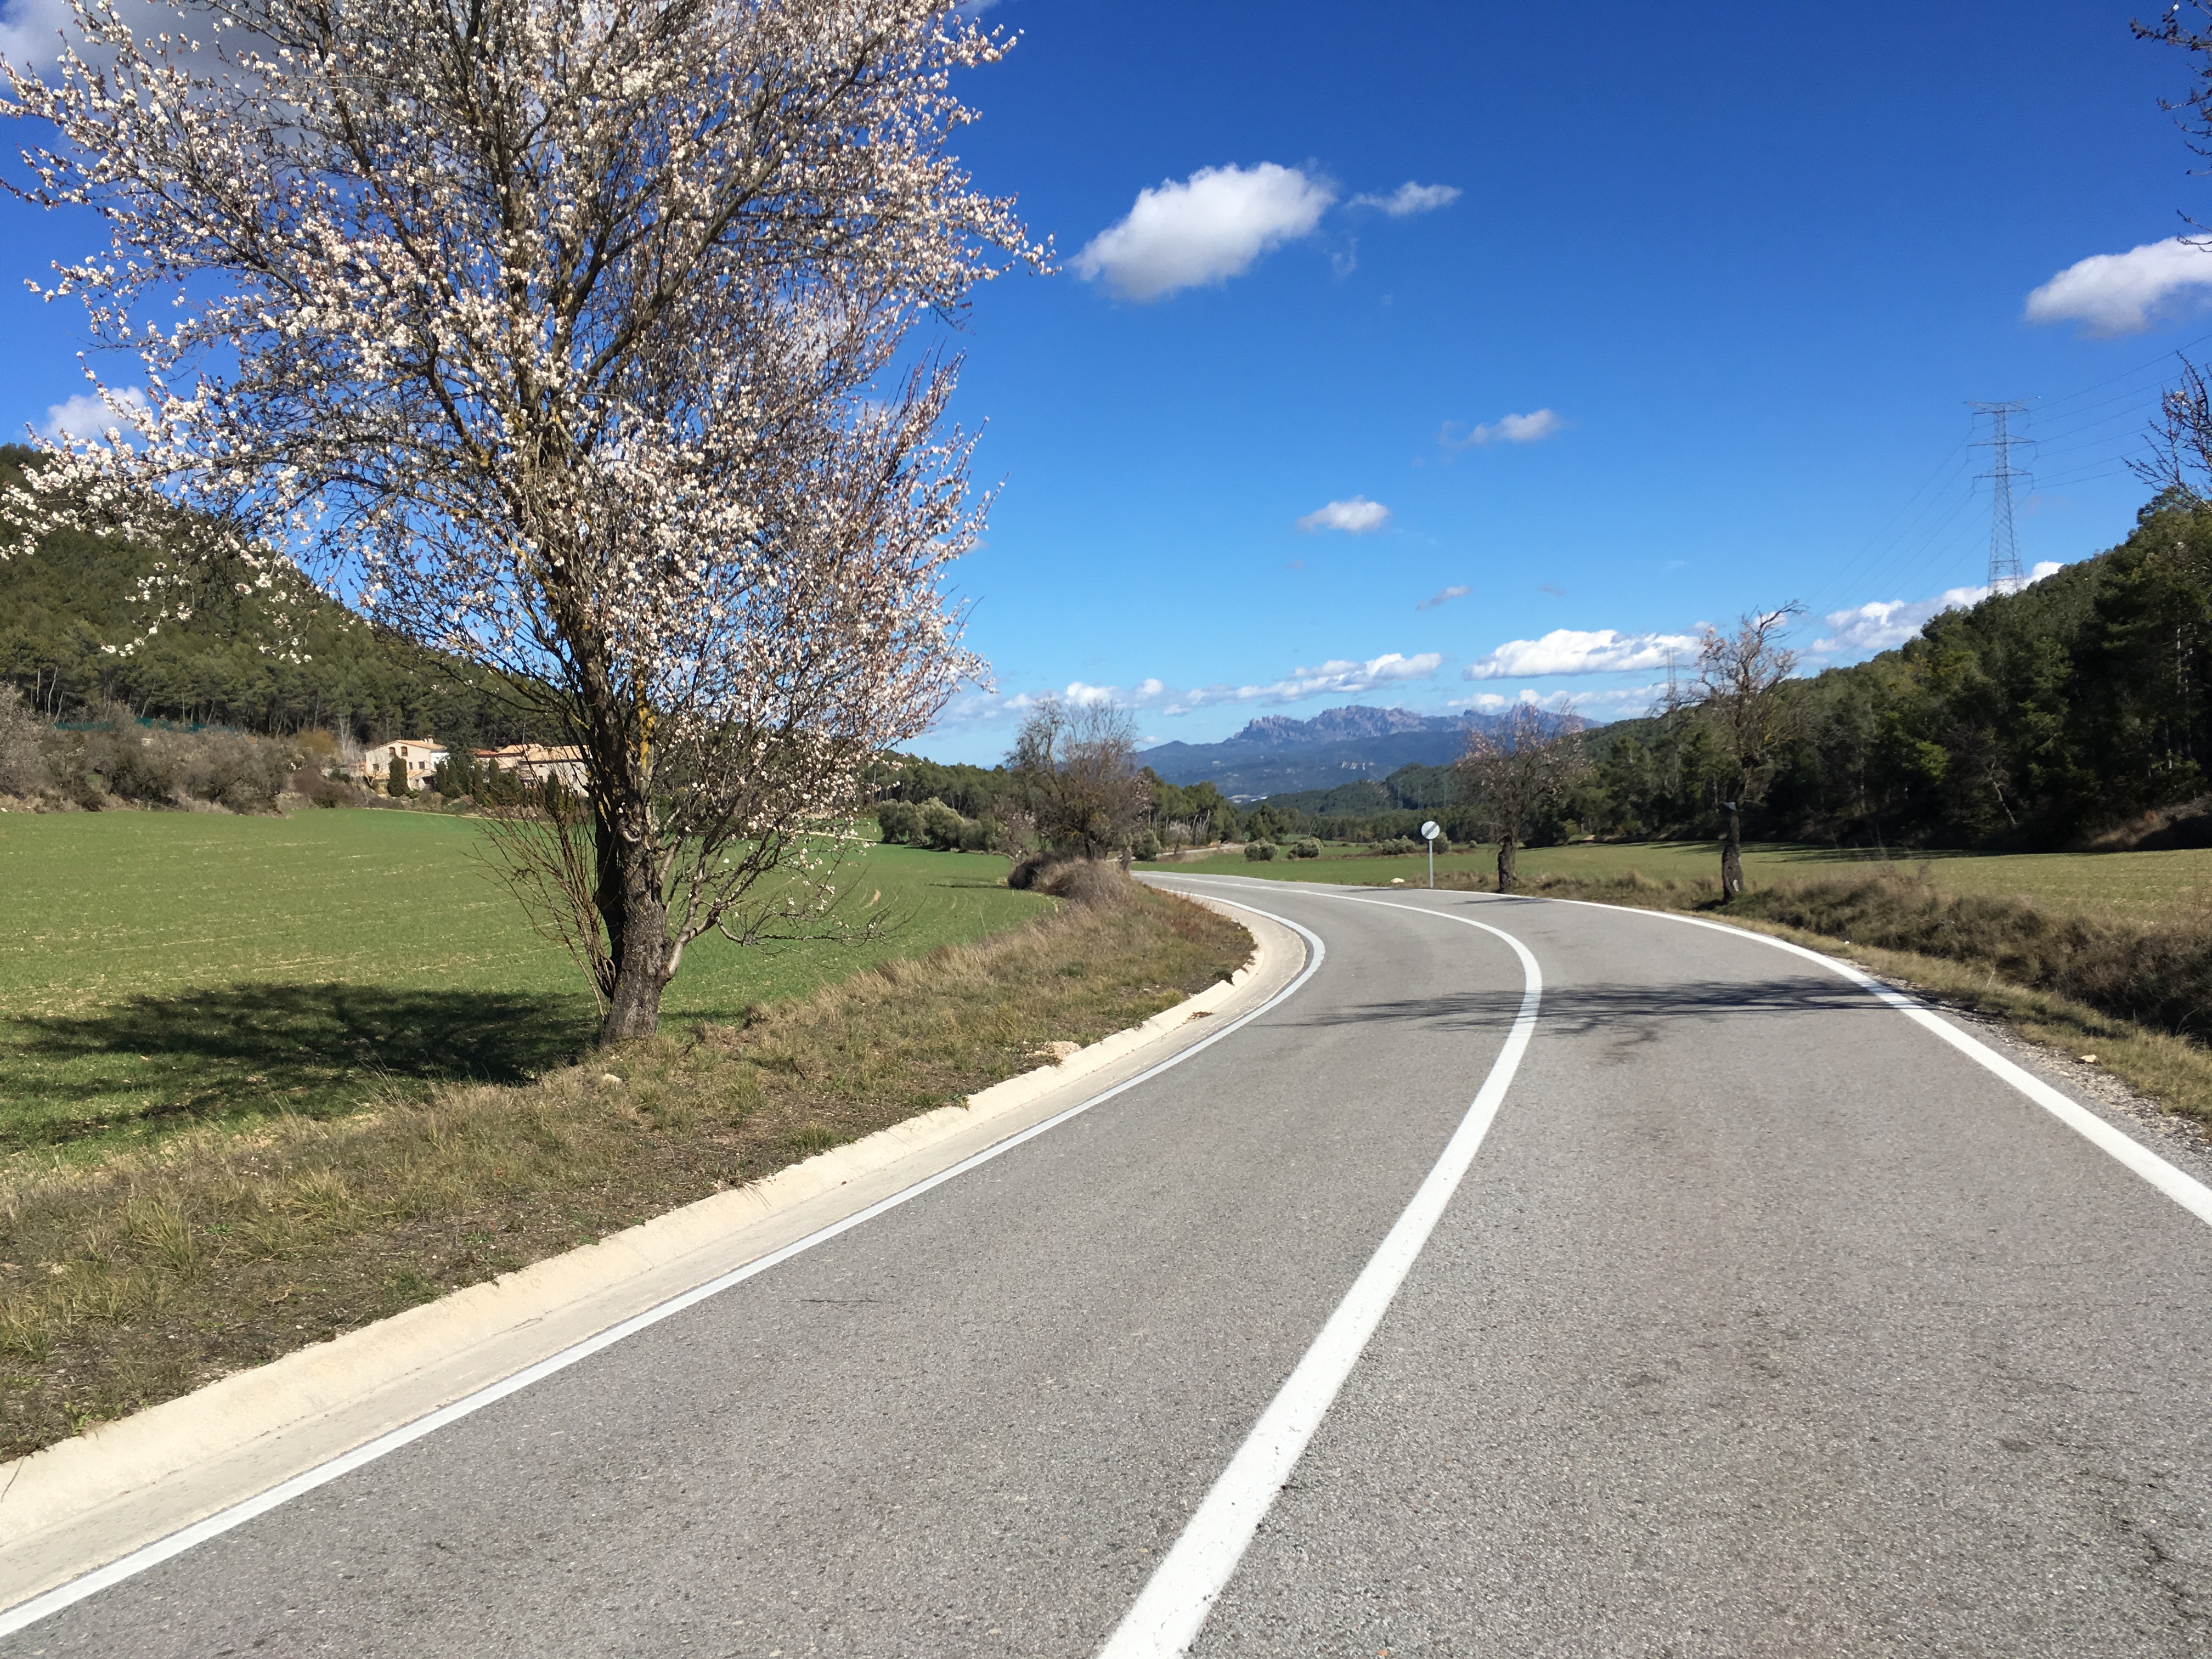
<svg viewBox="0 0 2212 1659">
<path fill-rule="evenodd" d="M 1453 887 L 1484 891 L 1486 883 L 1455 880 Z M 1606 880 L 1540 876 L 1522 891 L 1697 911 L 1787 938 L 1936 1002 L 1995 1015 L 2028 1042 L 2095 1055 L 2099 1066 L 2166 1110 L 2212 1121 L 2212 1048 L 2181 1035 L 2201 1029 L 2203 1002 L 2170 991 L 2143 993 L 2148 1013 L 2172 1015 L 2181 1026 L 2161 1031 L 2068 995 L 2079 984 L 2099 1000 L 2128 1006 L 2130 987 L 2146 971 L 2179 962 L 2181 971 L 2201 973 L 2205 931 L 2199 927 L 2084 931 L 2073 916 L 2048 918 L 2017 900 L 1944 894 L 1902 872 L 1874 883 L 1767 887 L 1736 905 L 1719 902 L 1717 883 L 1650 880 L 1635 869 Z M 2141 945 L 2143 936 L 2148 945 Z M 2068 940 L 2081 945 L 2079 953 L 2066 949 Z M 2130 945 L 2139 949 L 2130 951 Z"/>
</svg>

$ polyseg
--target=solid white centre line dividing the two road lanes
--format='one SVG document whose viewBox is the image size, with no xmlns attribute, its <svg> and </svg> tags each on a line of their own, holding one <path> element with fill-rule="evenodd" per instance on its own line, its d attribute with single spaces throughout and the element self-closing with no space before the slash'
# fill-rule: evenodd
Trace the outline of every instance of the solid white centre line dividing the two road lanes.
<svg viewBox="0 0 2212 1659">
<path fill-rule="evenodd" d="M 1352 902 L 1376 905 L 1383 900 L 1367 898 Z M 1383 907 L 1411 909 L 1389 902 L 1383 902 Z M 1265 916 L 1265 911 L 1261 914 Z M 1405 1206 L 1396 1225 L 1385 1234 L 1374 1256 L 1367 1259 L 1367 1265 L 1360 1267 L 1360 1276 L 1352 1281 L 1352 1290 L 1345 1292 L 1336 1312 L 1329 1314 L 1314 1345 L 1305 1349 L 1290 1380 L 1283 1383 L 1259 1422 L 1252 1425 L 1252 1433 L 1245 1436 L 1237 1455 L 1230 1458 L 1228 1469 L 1221 1471 L 1221 1478 L 1214 1480 L 1206 1500 L 1190 1515 L 1181 1537 L 1175 1540 L 1175 1548 L 1152 1571 L 1137 1601 L 1121 1615 L 1121 1624 L 1106 1637 L 1106 1646 L 1099 1648 L 1097 1659 L 1170 1659 L 1170 1655 L 1179 1655 L 1197 1641 L 1206 1615 L 1212 1613 L 1214 1597 L 1221 1595 L 1221 1588 L 1237 1571 L 1237 1562 L 1243 1559 L 1252 1535 L 1274 1506 L 1274 1495 L 1290 1480 L 1290 1471 L 1298 1464 L 1305 1444 L 1327 1416 L 1336 1391 L 1358 1363 L 1360 1349 L 1367 1347 L 1367 1338 L 1374 1336 L 1383 1314 L 1389 1312 L 1398 1285 L 1405 1283 L 1407 1272 L 1411 1272 L 1413 1261 L 1429 1241 L 1429 1232 L 1444 1214 L 1444 1206 L 1451 1203 L 1460 1177 L 1475 1161 L 1482 1137 L 1489 1133 L 1491 1119 L 1498 1117 L 1506 1086 L 1513 1082 L 1522 1053 L 1528 1048 L 1528 1037 L 1535 1031 L 1537 1000 L 1544 991 L 1544 973 L 1537 969 L 1528 947 L 1489 922 L 1451 916 L 1449 911 L 1422 909 L 1420 914 L 1480 927 L 1484 933 L 1495 933 L 1513 947 L 1522 964 L 1520 1015 L 1515 1015 L 1513 1029 L 1506 1033 L 1506 1042 L 1491 1064 L 1491 1075 L 1482 1079 L 1482 1093 L 1475 1095 L 1475 1102 L 1467 1108 L 1467 1117 L 1460 1119 L 1458 1130 L 1444 1144 L 1436 1168 L 1429 1170 L 1413 1201 Z"/>
</svg>

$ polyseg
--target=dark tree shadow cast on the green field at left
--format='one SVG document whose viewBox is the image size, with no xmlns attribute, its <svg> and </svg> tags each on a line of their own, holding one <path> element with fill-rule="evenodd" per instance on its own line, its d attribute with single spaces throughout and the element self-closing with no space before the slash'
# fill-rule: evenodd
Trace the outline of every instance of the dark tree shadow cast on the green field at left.
<svg viewBox="0 0 2212 1659">
<path fill-rule="evenodd" d="M 591 1042 L 580 995 L 228 984 L 13 1022 L 0 1146 L 241 1113 L 332 1117 L 387 1088 L 513 1084 Z M 13 1117 L 13 1115 L 11 1115 Z"/>
</svg>

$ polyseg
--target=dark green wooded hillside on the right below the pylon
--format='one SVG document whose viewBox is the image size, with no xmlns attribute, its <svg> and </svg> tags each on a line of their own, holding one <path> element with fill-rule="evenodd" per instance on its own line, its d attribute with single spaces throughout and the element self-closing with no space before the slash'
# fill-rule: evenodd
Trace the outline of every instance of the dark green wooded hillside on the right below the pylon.
<svg viewBox="0 0 2212 1659">
<path fill-rule="evenodd" d="M 1776 841 L 2064 847 L 2205 792 L 2212 507 L 2163 495 L 2117 549 L 1949 611 L 1801 681 L 1796 737 L 1745 832 Z M 1562 810 L 1604 836 L 1712 834 L 1721 768 L 1697 710 L 1590 734 Z"/>
</svg>

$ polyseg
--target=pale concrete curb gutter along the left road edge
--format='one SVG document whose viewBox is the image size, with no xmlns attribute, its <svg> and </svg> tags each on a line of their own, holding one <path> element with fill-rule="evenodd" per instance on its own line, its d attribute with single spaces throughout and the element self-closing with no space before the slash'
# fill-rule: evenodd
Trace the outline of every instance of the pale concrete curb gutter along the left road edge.
<svg viewBox="0 0 2212 1659">
<path fill-rule="evenodd" d="M 805 1239 L 1259 1006 L 1305 949 L 1276 922 L 1212 907 L 1252 931 L 1248 962 L 1053 1066 L 0 1464 L 0 1608 Z"/>
</svg>

